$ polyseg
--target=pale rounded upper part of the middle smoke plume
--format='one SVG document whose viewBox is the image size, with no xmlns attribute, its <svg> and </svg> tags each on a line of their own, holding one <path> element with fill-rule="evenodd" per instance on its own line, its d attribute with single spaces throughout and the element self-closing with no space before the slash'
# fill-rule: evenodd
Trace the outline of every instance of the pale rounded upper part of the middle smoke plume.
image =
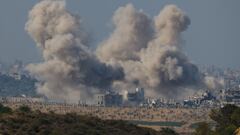
<svg viewBox="0 0 240 135">
<path fill-rule="evenodd" d="M 133 5 L 120 7 L 113 16 L 114 32 L 97 49 L 104 62 L 139 60 L 137 53 L 147 47 L 152 37 L 150 18 Z"/>
</svg>

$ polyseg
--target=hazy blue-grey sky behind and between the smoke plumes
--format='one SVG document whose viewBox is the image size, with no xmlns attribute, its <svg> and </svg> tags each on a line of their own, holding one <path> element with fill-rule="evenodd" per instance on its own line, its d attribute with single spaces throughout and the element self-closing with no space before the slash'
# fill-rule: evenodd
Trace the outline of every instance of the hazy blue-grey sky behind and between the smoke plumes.
<svg viewBox="0 0 240 135">
<path fill-rule="evenodd" d="M 41 60 L 39 50 L 24 30 L 29 10 L 38 0 L 0 1 L 0 61 Z M 196 64 L 240 67 L 239 0 L 68 0 L 67 8 L 79 14 L 91 33 L 93 46 L 112 31 L 111 17 L 119 7 L 132 3 L 149 16 L 166 4 L 176 4 L 191 19 L 184 33 L 184 50 Z"/>
</svg>

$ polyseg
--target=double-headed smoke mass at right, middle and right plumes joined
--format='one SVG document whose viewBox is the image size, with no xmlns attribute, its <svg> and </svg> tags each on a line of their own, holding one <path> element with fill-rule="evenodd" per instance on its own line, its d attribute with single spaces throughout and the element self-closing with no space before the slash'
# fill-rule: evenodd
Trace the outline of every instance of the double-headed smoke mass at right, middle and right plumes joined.
<svg viewBox="0 0 240 135">
<path fill-rule="evenodd" d="M 114 87 L 141 86 L 148 89 L 148 95 L 179 97 L 191 88 L 209 86 L 182 51 L 181 33 L 190 19 L 178 7 L 165 6 L 150 20 L 129 4 L 115 12 L 113 22 L 115 30 L 97 49 L 97 55 L 103 62 L 123 67 L 125 80 L 115 81 Z M 212 78 L 211 83 L 217 80 Z"/>
</svg>

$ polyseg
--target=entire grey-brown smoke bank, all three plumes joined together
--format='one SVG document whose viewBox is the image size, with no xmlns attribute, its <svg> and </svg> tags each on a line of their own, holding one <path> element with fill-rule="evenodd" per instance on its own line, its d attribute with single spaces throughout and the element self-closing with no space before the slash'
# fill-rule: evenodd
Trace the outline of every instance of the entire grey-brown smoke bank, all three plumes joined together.
<svg viewBox="0 0 240 135">
<path fill-rule="evenodd" d="M 185 95 L 194 87 L 218 87 L 182 51 L 181 33 L 190 19 L 175 5 L 151 19 L 132 4 L 113 16 L 114 30 L 92 52 L 80 18 L 65 2 L 44 0 L 29 13 L 26 30 L 42 50 L 44 61 L 27 68 L 48 97 L 78 99 L 104 89 L 144 87 L 148 95 Z"/>
</svg>

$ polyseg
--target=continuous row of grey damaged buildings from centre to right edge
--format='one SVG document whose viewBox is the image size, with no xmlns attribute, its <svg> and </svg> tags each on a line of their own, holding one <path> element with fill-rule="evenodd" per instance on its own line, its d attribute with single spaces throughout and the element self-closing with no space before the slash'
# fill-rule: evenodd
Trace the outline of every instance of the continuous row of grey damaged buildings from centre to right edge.
<svg viewBox="0 0 240 135">
<path fill-rule="evenodd" d="M 188 99 L 175 100 L 166 98 L 145 98 L 144 89 L 136 88 L 134 92 L 127 92 L 123 95 L 115 92 L 106 92 L 105 94 L 95 95 L 96 106 L 138 106 L 138 107 L 221 107 L 224 104 L 235 104 L 240 106 L 240 86 L 228 89 L 222 89 L 218 93 L 203 91 L 201 94 L 190 96 Z"/>
</svg>

